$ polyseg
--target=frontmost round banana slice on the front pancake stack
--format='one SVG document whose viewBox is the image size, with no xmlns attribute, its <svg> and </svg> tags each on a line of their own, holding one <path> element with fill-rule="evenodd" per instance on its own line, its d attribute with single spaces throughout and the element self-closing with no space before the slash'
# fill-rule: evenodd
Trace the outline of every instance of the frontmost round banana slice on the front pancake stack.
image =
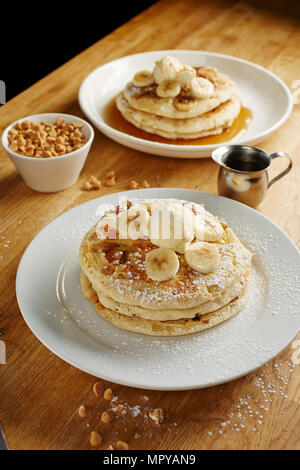
<svg viewBox="0 0 300 470">
<path fill-rule="evenodd" d="M 179 260 L 175 251 L 156 248 L 149 251 L 145 259 L 146 273 L 153 281 L 167 281 L 176 276 Z"/>
</svg>

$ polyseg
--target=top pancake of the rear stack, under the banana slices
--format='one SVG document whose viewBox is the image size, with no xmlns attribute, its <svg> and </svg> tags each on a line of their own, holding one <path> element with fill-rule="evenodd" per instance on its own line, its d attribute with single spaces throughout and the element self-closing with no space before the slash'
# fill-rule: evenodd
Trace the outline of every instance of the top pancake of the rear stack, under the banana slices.
<svg viewBox="0 0 300 470">
<path fill-rule="evenodd" d="M 137 87 L 129 82 L 123 93 L 131 108 L 172 119 L 187 119 L 200 116 L 236 95 L 232 80 L 211 67 L 194 67 L 198 77 L 208 79 L 214 85 L 214 94 L 206 99 L 190 100 L 188 110 L 179 110 L 174 98 L 161 98 L 156 94 L 156 85 Z"/>
</svg>

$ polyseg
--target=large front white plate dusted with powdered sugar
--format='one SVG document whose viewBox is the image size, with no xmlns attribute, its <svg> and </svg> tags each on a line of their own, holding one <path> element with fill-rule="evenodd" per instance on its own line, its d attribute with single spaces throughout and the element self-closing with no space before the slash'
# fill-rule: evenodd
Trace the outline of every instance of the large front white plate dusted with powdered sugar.
<svg viewBox="0 0 300 470">
<path fill-rule="evenodd" d="M 81 293 L 77 252 L 99 208 L 117 203 L 119 195 L 204 203 L 226 220 L 254 255 L 246 308 L 215 328 L 176 338 L 126 332 L 100 318 Z M 71 209 L 30 243 L 16 288 L 25 321 L 51 351 L 92 375 L 139 388 L 180 390 L 227 382 L 273 358 L 300 328 L 295 244 L 255 210 L 200 191 L 128 191 Z"/>
</svg>

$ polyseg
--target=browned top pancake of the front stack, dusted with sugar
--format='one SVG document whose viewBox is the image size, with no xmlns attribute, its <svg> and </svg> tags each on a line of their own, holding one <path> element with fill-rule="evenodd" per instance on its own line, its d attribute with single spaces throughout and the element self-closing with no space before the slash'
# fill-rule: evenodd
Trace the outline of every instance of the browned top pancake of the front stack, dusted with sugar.
<svg viewBox="0 0 300 470">
<path fill-rule="evenodd" d="M 197 206 L 187 202 L 182 204 L 192 208 Z M 154 310 L 198 307 L 224 294 L 232 283 L 241 279 L 251 263 L 250 252 L 224 225 L 223 236 L 216 243 L 220 263 L 214 272 L 201 274 L 191 269 L 184 255 L 178 253 L 180 268 L 177 274 L 164 282 L 154 281 L 147 276 L 145 256 L 157 248 L 156 245 L 149 239 L 99 240 L 95 237 L 95 229 L 96 226 L 92 227 L 81 243 L 82 270 L 97 292 L 130 306 Z M 118 259 L 123 255 L 126 255 L 126 261 L 119 263 Z"/>
</svg>

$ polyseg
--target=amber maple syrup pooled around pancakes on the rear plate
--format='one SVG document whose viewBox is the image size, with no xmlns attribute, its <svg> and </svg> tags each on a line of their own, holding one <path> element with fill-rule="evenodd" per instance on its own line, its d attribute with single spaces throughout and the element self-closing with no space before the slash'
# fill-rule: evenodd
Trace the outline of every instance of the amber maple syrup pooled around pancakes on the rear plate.
<svg viewBox="0 0 300 470">
<path fill-rule="evenodd" d="M 228 142 L 233 138 L 240 137 L 246 131 L 251 119 L 251 109 L 242 106 L 240 114 L 233 121 L 232 125 L 228 129 L 224 130 L 221 134 L 189 140 L 167 139 L 155 134 L 150 134 L 149 132 L 143 131 L 142 129 L 138 129 L 133 124 L 126 121 L 116 106 L 115 98 L 113 98 L 104 109 L 104 120 L 114 129 L 124 132 L 125 134 L 138 137 L 139 139 L 175 145 L 215 145 Z"/>
</svg>

